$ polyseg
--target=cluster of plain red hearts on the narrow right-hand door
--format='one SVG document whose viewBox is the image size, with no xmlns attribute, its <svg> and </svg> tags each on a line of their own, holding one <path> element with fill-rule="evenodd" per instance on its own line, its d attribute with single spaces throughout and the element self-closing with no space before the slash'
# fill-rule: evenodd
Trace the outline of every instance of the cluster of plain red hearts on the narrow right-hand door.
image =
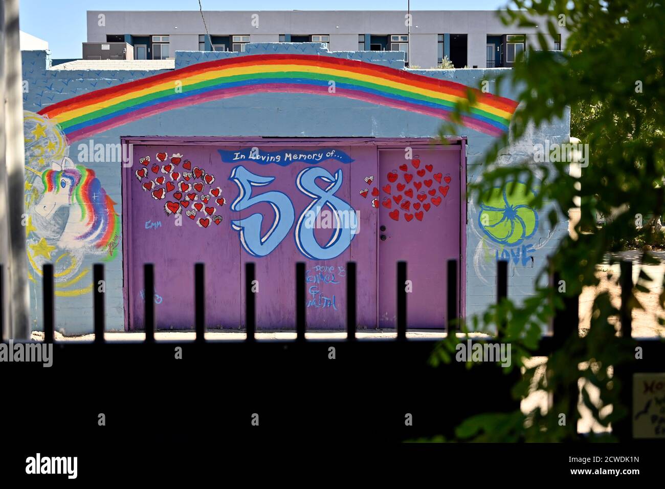
<svg viewBox="0 0 665 489">
<path fill-rule="evenodd" d="M 446 197 L 450 190 L 450 176 L 433 173 L 434 166 L 424 165 L 423 168 L 420 168 L 418 159 L 411 160 L 411 166 L 413 168 L 405 163 L 399 167 L 404 182 L 400 181 L 400 173 L 392 170 L 387 175 L 388 183 L 381 187 L 384 198 L 380 205 L 391 209 L 388 216 L 395 221 L 400 220 L 400 210 L 404 214 L 406 222 L 410 222 L 413 218 L 422 221 L 424 213 L 430 212 L 432 205 L 438 207 L 442 198 Z M 420 178 L 420 180 L 416 180 L 416 178 Z M 371 186 L 372 182 L 374 182 L 374 176 L 365 177 L 365 183 L 368 186 Z M 369 188 L 360 190 L 360 195 L 364 198 L 368 194 L 370 194 Z M 372 207 L 374 208 L 379 206 L 379 194 L 378 187 L 372 188 L 371 195 L 374 197 Z"/>
</svg>

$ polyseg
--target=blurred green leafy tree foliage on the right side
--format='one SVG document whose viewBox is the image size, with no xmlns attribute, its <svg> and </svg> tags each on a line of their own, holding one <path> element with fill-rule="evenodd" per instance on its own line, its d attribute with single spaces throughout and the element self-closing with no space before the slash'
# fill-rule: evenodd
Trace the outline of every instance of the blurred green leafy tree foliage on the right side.
<svg viewBox="0 0 665 489">
<path fill-rule="evenodd" d="M 511 122 L 511 134 L 497 138 L 487 151 L 483 174 L 469 184 L 469 191 L 479 203 L 497 186 L 510 192 L 507 182 L 519 180 L 531 186 L 539 178 L 540 192 L 533 196 L 531 206 L 549 210 L 551 222 L 569 216 L 576 207 L 580 217 L 575 232 L 561 240 L 550 257 L 551 269 L 558 271 L 565 291 L 562 287 L 537 287 L 535 295 L 520 305 L 505 300 L 480 317 L 468 319 L 471 324 L 464 325 L 463 331 L 492 332 L 498 325 L 505 341 L 513 343 L 513 366 L 524 373 L 513 389 L 515 399 L 523 399 L 535 389 L 561 393 L 581 378 L 583 403 L 597 422 L 607 426 L 626 415 L 618 397 L 622 386 L 612 371 L 632 359 L 634 347 L 631 339 L 617 334 L 619 311 L 607 293 L 595 297 L 591 328 L 585 335 L 571 333 L 544 365 L 534 365 L 531 354 L 540 341 L 543 325 L 555 309 L 563 307 L 563 296 L 579 295 L 583 287 L 598 284 L 595 271 L 607 253 L 640 236 L 643 240 L 661 239 L 644 238 L 644 228 L 655 232 L 653 219 L 642 230 L 636 222 L 638 214 L 640 218 L 662 216 L 665 210 L 665 7 L 641 0 L 516 0 L 501 12 L 501 18 L 515 31 L 539 26 L 551 35 L 557 35 L 557 25 L 563 22 L 570 35 L 564 52 L 548 51 L 545 36 L 539 35 L 539 49 L 529 47 L 511 75 L 501 74 L 495 79 L 499 91 L 501 84 L 511 84 L 519 93 L 520 104 Z M 469 112 L 473 103 L 470 90 L 469 97 L 470 102 L 457 104 L 454 123 Z M 589 166 L 582 168 L 580 176 L 569 173 L 567 162 L 495 164 L 499 151 L 511 141 L 525 136 L 529 128 L 565 120 L 569 110 L 571 134 L 589 144 L 590 149 Z M 454 134 L 450 126 L 444 126 L 441 133 Z M 597 213 L 612 219 L 598 227 Z M 645 253 L 642 263 L 652 263 L 652 258 Z M 640 271 L 636 289 L 645 290 L 649 280 Z M 662 301 L 665 303 L 665 298 Z M 634 295 L 629 307 L 640 307 Z M 438 345 L 432 363 L 452 361 L 458 341 L 450 337 Z M 592 402 L 589 386 L 599 389 L 600 403 Z M 575 398 L 558 396 L 547 412 L 535 408 L 528 414 L 517 411 L 473 416 L 458 426 L 456 434 L 461 440 L 475 441 L 571 439 L 576 436 L 576 413 L 569 407 L 571 401 L 577 403 Z M 567 414 L 568 428 L 562 429 L 559 413 Z"/>
</svg>

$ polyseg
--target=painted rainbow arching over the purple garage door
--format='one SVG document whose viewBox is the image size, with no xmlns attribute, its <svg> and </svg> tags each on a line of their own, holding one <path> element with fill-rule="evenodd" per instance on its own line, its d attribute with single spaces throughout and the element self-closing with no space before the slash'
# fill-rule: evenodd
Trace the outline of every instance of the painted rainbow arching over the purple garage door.
<svg viewBox="0 0 665 489">
<path fill-rule="evenodd" d="M 334 92 L 329 82 L 335 82 Z M 182 82 L 182 91 L 176 90 Z M 210 100 L 255 93 L 343 96 L 450 120 L 469 87 L 362 61 L 319 55 L 248 55 L 198 63 L 63 100 L 39 112 L 75 142 L 134 120 Z M 471 89 L 475 103 L 464 126 L 498 136 L 517 102 Z"/>
</svg>

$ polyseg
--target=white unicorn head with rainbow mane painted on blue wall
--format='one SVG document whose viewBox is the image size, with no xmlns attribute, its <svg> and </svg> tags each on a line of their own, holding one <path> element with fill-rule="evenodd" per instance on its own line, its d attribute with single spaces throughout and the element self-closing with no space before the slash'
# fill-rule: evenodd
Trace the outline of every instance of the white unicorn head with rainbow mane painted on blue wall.
<svg viewBox="0 0 665 489">
<path fill-rule="evenodd" d="M 63 206 L 69 208 L 65 230 L 57 246 L 73 255 L 87 253 L 106 255 L 112 259 L 117 252 L 120 218 L 116 204 L 106 194 L 94 171 L 76 166 L 70 158 L 53 163 L 42 174 L 44 194 L 35 204 L 34 212 L 52 218 Z"/>
</svg>

